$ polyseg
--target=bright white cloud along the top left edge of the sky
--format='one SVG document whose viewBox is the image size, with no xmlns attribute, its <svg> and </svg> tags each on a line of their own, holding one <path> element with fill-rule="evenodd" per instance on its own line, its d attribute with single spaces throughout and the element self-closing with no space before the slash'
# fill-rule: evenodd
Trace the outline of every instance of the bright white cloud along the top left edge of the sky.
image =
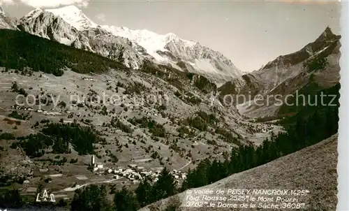
<svg viewBox="0 0 349 211">
<path fill-rule="evenodd" d="M 14 0 L 0 0 L 1 4 L 10 4 Z M 43 8 L 56 8 L 59 6 L 66 6 L 70 4 L 75 4 L 80 7 L 86 8 L 89 5 L 90 0 L 20 0 L 16 3 L 24 3 L 27 6 L 34 8 L 43 7 Z"/>
</svg>

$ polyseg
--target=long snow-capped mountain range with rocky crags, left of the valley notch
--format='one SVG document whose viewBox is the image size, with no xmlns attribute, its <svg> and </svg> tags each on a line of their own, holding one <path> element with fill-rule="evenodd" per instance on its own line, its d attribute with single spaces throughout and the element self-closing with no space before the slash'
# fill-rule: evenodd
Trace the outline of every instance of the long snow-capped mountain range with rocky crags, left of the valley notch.
<svg viewBox="0 0 349 211">
<path fill-rule="evenodd" d="M 17 22 L 10 22 L 4 14 L 1 19 L 1 28 L 18 27 L 36 36 L 121 61 L 130 68 L 141 68 L 149 60 L 200 73 L 218 85 L 242 75 L 230 59 L 198 42 L 186 41 L 172 33 L 160 35 L 146 29 L 98 25 L 76 6 L 36 8 Z"/>
</svg>

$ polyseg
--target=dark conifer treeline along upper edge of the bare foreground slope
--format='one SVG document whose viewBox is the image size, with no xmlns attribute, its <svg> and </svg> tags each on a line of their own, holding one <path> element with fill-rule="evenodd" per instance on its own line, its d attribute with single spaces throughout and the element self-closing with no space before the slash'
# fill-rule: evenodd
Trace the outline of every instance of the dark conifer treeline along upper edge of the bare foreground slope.
<svg viewBox="0 0 349 211">
<path fill-rule="evenodd" d="M 200 162 L 195 169 L 189 170 L 181 191 L 202 187 L 228 177 L 228 175 L 260 166 L 319 143 L 337 133 L 339 89 L 340 85 L 336 85 L 318 92 L 319 96 L 322 93 L 327 96 L 336 96 L 336 99 L 332 101 L 331 97 L 324 99 L 322 105 L 304 106 L 295 116 L 281 120 L 279 124 L 285 126 L 287 131 L 279 133 L 278 136 L 272 134 L 272 137 L 264 140 L 262 145 L 258 147 L 240 145 L 233 148 L 230 159 L 223 162 L 208 159 Z M 330 101 L 332 101 L 330 105 L 336 106 L 329 106 Z"/>
</svg>

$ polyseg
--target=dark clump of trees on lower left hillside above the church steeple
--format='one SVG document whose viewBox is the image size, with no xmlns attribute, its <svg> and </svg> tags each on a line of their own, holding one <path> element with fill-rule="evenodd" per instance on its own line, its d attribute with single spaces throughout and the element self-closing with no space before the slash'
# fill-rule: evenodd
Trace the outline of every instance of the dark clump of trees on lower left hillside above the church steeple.
<svg viewBox="0 0 349 211">
<path fill-rule="evenodd" d="M 37 134 L 19 137 L 18 143 L 13 143 L 11 147 L 20 145 L 29 157 L 41 157 L 45 154 L 45 149 L 52 146 L 52 153 L 70 153 L 69 143 L 79 154 L 94 154 L 94 143 L 105 141 L 96 134 L 94 129 L 80 124 L 70 123 L 50 123 Z"/>
</svg>

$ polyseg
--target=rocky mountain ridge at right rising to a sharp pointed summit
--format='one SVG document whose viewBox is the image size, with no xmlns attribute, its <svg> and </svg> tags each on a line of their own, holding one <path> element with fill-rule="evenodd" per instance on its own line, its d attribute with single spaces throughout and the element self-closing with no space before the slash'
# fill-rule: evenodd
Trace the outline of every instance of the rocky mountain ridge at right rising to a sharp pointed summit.
<svg viewBox="0 0 349 211">
<path fill-rule="evenodd" d="M 313 43 L 297 52 L 277 57 L 258 71 L 242 75 L 242 80 L 226 82 L 218 91 L 221 94 L 244 95 L 246 99 L 254 99 L 258 95 L 267 99 L 267 96 L 276 94 L 283 97 L 295 94 L 297 90 L 313 85 L 318 85 L 318 89 L 331 87 L 339 82 L 340 77 L 340 38 L 327 27 Z M 279 106 L 275 106 L 274 102 L 273 99 L 268 103 L 265 101 L 263 106 L 256 106 L 252 101 L 236 101 L 239 111 L 250 117 L 277 115 Z"/>
</svg>

